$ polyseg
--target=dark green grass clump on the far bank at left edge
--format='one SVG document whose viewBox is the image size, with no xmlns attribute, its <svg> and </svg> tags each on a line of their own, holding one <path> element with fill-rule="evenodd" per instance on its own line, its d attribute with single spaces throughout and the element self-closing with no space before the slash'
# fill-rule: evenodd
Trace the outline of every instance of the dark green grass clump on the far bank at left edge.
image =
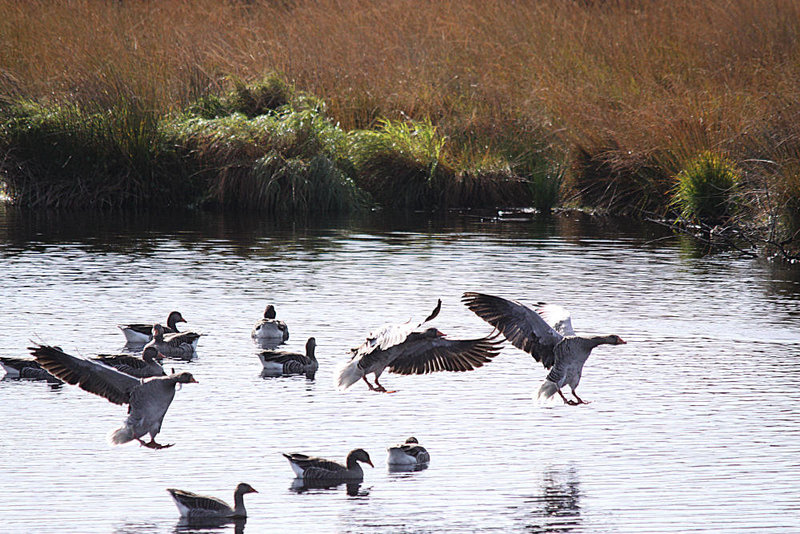
<svg viewBox="0 0 800 534">
<path fill-rule="evenodd" d="M 2 109 L 8 195 L 30 207 L 162 206 L 193 185 L 164 180 L 174 163 L 158 118 L 139 103 L 108 110 L 18 101 Z"/>
</svg>

